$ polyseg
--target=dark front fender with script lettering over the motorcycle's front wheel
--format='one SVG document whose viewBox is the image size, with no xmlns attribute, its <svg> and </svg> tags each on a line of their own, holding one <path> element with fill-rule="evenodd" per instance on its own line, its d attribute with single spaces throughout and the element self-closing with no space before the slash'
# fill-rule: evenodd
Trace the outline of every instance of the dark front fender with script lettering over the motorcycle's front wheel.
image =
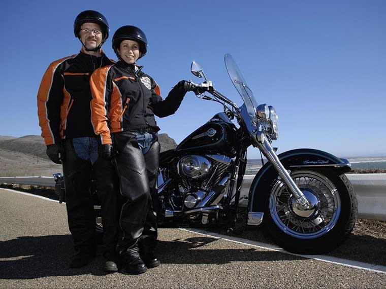
<svg viewBox="0 0 386 289">
<path fill-rule="evenodd" d="M 351 170 L 351 164 L 346 159 L 339 159 L 327 152 L 313 149 L 296 149 L 277 156 L 287 170 L 297 168 L 330 168 L 338 170 L 339 174 Z M 273 180 L 278 173 L 270 162 L 267 162 L 255 175 L 249 189 L 248 208 L 250 212 L 263 212 L 265 202 Z"/>
</svg>

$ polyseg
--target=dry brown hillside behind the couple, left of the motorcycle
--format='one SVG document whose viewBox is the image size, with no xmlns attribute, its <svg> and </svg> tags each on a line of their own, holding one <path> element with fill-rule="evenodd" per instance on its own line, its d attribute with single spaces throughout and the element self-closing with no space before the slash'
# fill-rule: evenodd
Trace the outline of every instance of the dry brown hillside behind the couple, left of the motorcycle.
<svg viewBox="0 0 386 289">
<path fill-rule="evenodd" d="M 161 151 L 175 149 L 177 143 L 166 133 L 158 135 Z M 61 172 L 46 155 L 40 135 L 0 136 L 0 176 L 46 175 Z"/>
</svg>

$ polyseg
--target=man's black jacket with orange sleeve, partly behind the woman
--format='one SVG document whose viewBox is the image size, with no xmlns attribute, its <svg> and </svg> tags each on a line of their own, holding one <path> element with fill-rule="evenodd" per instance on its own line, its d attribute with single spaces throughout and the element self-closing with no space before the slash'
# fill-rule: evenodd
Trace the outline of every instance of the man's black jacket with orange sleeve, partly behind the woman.
<svg viewBox="0 0 386 289">
<path fill-rule="evenodd" d="M 95 137 L 91 124 L 90 76 L 97 68 L 115 63 L 83 52 L 52 62 L 38 92 L 39 125 L 46 146 L 62 138 Z"/>
</svg>

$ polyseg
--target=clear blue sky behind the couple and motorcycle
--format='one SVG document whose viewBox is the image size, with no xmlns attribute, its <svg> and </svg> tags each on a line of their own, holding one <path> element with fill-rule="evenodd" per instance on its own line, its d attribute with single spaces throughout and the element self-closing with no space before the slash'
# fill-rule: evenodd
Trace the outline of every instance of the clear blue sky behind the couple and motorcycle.
<svg viewBox="0 0 386 289">
<path fill-rule="evenodd" d="M 0 135 L 40 134 L 36 94 L 53 60 L 76 54 L 77 14 L 93 9 L 114 31 L 145 31 L 139 61 L 165 97 L 198 61 L 214 87 L 240 103 L 223 56 L 231 53 L 258 103 L 279 115 L 279 152 L 386 156 L 386 1 L 2 1 Z M 222 107 L 188 93 L 160 133 L 177 142 Z M 249 158 L 258 158 L 255 149 Z"/>
</svg>

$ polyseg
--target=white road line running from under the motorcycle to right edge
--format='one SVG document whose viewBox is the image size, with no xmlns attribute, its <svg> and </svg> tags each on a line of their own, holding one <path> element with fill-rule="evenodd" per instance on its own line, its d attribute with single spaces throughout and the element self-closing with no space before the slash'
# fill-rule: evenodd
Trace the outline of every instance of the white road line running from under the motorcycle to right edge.
<svg viewBox="0 0 386 289">
<path fill-rule="evenodd" d="M 275 245 L 251 241 L 251 240 L 238 238 L 238 237 L 220 235 L 217 233 L 207 232 L 207 231 L 203 231 L 203 230 L 199 230 L 199 229 L 180 229 L 180 230 L 189 231 L 192 233 L 197 233 L 197 234 L 204 235 L 204 236 L 210 236 L 210 237 L 213 237 L 216 239 L 224 239 L 224 240 L 228 240 L 228 241 L 235 242 L 235 243 L 251 245 L 251 246 L 259 247 L 262 249 L 278 251 L 278 252 L 282 252 L 284 254 L 300 256 L 300 257 L 307 258 L 307 259 L 312 259 L 312 260 L 317 260 L 317 261 L 322 261 L 322 262 L 327 262 L 327 263 L 333 263 L 333 264 L 337 264 L 337 265 L 343 265 L 343 266 L 347 266 L 347 267 L 351 267 L 351 268 L 369 270 L 372 272 L 386 273 L 386 266 L 374 265 L 374 264 L 352 261 L 352 260 L 347 260 L 347 259 L 341 259 L 341 258 L 336 258 L 336 257 L 331 257 L 331 256 L 326 256 L 326 255 L 294 254 L 291 252 L 287 252 L 287 251 L 283 250 L 282 248 L 275 246 Z"/>
</svg>

